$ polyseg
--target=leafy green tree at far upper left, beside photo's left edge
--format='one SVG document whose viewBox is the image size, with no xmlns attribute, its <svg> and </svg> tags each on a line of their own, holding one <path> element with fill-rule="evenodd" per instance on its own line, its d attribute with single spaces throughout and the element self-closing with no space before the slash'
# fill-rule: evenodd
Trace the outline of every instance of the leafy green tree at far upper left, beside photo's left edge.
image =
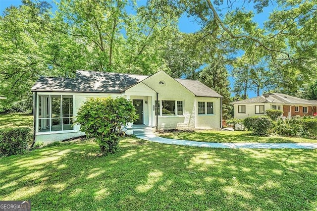
<svg viewBox="0 0 317 211">
<path fill-rule="evenodd" d="M 49 75 L 46 64 L 46 34 L 50 4 L 23 0 L 19 7 L 6 8 L 0 16 L 0 95 L 1 104 L 32 99 L 34 81 Z"/>
</svg>

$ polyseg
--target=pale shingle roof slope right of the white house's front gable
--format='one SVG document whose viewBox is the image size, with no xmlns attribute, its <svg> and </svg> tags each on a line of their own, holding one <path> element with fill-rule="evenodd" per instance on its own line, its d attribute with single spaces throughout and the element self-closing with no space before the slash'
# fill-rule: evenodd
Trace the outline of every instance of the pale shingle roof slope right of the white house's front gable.
<svg viewBox="0 0 317 211">
<path fill-rule="evenodd" d="M 194 95 L 198 97 L 214 97 L 214 98 L 222 98 L 221 95 L 213 91 L 211 88 L 206 86 L 200 81 L 197 80 L 186 80 L 175 78 L 181 85 L 186 87 L 189 91 L 191 91 Z"/>
</svg>

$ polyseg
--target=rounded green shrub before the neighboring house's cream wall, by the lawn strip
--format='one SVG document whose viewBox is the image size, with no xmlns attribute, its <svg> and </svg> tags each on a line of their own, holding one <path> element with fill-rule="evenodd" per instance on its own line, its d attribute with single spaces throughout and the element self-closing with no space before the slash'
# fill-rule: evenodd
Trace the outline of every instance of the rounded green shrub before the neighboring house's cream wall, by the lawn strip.
<svg viewBox="0 0 317 211">
<path fill-rule="evenodd" d="M 273 123 L 268 116 L 251 116 L 243 120 L 243 125 L 254 134 L 264 136 L 269 134 Z"/>
</svg>

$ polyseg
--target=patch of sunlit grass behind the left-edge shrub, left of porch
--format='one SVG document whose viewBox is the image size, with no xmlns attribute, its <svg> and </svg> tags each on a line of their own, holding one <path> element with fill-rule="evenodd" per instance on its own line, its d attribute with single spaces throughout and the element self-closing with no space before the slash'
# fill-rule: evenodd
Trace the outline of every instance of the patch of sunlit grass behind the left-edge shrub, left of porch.
<svg viewBox="0 0 317 211">
<path fill-rule="evenodd" d="M 0 128 L 33 127 L 33 115 L 24 113 L 0 114 Z"/>
</svg>

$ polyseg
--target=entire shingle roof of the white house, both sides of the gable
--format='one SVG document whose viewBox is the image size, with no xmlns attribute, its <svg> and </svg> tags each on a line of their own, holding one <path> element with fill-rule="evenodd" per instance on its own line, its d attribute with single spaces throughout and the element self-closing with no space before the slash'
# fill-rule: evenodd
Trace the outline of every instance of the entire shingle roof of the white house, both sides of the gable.
<svg viewBox="0 0 317 211">
<path fill-rule="evenodd" d="M 36 81 L 31 90 L 42 92 L 122 93 L 148 77 L 148 75 L 77 70 L 76 78 L 41 77 Z M 175 80 L 195 96 L 222 97 L 199 81 L 186 79 Z"/>
</svg>

